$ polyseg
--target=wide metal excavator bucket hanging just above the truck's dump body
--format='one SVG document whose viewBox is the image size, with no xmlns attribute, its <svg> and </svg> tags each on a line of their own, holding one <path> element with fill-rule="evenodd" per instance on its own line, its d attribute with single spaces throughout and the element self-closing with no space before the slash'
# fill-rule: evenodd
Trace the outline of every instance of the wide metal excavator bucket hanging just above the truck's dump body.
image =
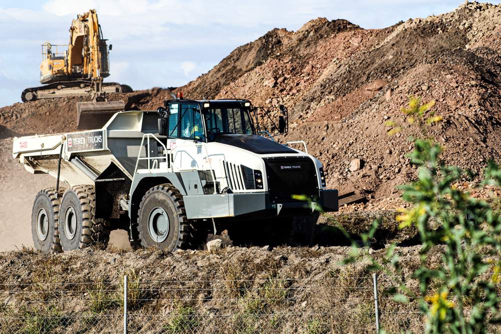
<svg viewBox="0 0 501 334">
<path fill-rule="evenodd" d="M 100 129 L 117 111 L 125 109 L 124 101 L 78 102 L 78 130 Z"/>
</svg>

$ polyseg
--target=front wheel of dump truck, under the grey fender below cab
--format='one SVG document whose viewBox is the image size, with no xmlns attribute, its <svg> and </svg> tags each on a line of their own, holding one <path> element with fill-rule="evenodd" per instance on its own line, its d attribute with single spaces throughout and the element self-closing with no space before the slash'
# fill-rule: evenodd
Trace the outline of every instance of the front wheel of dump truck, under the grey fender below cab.
<svg viewBox="0 0 501 334">
<path fill-rule="evenodd" d="M 186 218 L 183 196 L 172 184 L 154 186 L 144 194 L 139 204 L 138 232 L 143 247 L 173 252 L 191 246 L 193 226 Z"/>
</svg>

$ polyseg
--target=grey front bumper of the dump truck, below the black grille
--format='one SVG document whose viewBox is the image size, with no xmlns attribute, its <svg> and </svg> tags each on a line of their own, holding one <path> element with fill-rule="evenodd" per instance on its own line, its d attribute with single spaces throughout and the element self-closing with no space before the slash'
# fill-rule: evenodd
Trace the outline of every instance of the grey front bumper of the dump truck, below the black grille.
<svg viewBox="0 0 501 334">
<path fill-rule="evenodd" d="M 327 189 L 319 191 L 319 201 L 316 203 L 306 201 L 274 203 L 268 192 L 185 195 L 183 200 L 188 219 L 273 217 L 338 210 L 338 191 Z"/>
</svg>

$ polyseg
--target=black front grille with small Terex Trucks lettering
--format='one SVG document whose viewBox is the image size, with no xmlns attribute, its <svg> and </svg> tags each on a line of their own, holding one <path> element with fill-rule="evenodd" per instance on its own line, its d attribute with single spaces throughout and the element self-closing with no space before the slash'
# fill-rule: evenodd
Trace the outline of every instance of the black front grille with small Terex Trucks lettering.
<svg viewBox="0 0 501 334">
<path fill-rule="evenodd" d="M 318 197 L 315 164 L 309 157 L 263 158 L 266 164 L 268 191 L 274 202 L 295 201 L 293 195 Z"/>
</svg>

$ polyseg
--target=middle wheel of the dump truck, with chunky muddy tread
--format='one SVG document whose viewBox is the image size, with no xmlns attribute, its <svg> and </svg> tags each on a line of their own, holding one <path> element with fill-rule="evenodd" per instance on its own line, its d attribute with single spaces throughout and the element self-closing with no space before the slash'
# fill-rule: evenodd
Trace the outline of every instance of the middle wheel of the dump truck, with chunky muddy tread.
<svg viewBox="0 0 501 334">
<path fill-rule="evenodd" d="M 104 249 L 110 240 L 110 224 L 94 217 L 94 186 L 78 185 L 65 191 L 61 200 L 60 239 L 63 250 L 97 246 Z"/>
</svg>

